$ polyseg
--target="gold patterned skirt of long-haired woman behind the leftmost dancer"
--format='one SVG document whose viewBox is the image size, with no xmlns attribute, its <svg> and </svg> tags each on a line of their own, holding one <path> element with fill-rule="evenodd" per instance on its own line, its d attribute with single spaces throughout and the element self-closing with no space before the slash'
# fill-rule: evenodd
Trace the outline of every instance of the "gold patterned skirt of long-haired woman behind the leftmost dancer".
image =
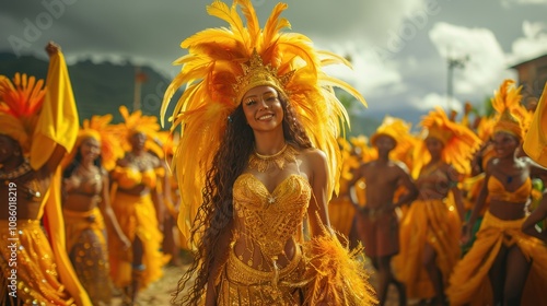
<svg viewBox="0 0 547 306">
<path fill-rule="evenodd" d="M 67 252 L 93 305 L 109 305 L 112 280 L 105 225 L 98 208 L 86 212 L 62 210 Z"/>
</svg>

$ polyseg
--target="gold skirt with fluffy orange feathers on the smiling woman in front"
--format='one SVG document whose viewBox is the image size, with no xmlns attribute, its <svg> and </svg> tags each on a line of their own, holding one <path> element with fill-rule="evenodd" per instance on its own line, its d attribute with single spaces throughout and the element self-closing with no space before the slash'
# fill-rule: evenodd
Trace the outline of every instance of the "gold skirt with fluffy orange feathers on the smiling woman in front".
<svg viewBox="0 0 547 306">
<path fill-rule="evenodd" d="M 233 245 L 232 245 L 233 246 Z M 336 237 L 316 236 L 296 246 L 287 267 L 259 271 L 240 260 L 230 248 L 218 283 L 217 305 L 376 305 L 369 273 Z"/>
</svg>

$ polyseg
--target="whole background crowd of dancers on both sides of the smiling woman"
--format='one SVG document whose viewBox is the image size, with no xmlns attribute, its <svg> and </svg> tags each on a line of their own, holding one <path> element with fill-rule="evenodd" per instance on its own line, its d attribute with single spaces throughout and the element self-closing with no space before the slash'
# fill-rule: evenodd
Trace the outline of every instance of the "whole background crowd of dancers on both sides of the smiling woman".
<svg viewBox="0 0 547 306">
<path fill-rule="evenodd" d="M 80 126 L 63 56 L 46 50 L 45 83 L 0 76 L 0 304 L 109 305 L 117 292 L 132 305 L 188 245 L 176 139 L 126 107 L 121 123 Z M 491 116 L 435 108 L 419 132 L 386 117 L 370 143 L 339 140 L 328 215 L 342 244 L 364 246 L 380 304 L 394 284 L 400 305 L 547 305 L 546 95 L 534 113 L 507 80 Z"/>
</svg>

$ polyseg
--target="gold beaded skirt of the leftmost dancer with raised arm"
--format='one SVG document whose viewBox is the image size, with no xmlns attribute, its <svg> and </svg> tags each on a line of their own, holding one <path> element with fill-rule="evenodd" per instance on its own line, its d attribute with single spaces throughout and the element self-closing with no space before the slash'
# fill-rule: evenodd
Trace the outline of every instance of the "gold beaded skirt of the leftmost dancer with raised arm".
<svg viewBox="0 0 547 306">
<path fill-rule="evenodd" d="M 16 231 L 14 236 L 11 235 L 8 221 L 0 221 L 0 234 L 7 244 L 0 248 L 0 304 L 12 305 L 4 298 L 8 293 L 16 292 L 19 305 L 75 305 L 59 281 L 54 252 L 39 221 L 20 220 Z"/>
</svg>

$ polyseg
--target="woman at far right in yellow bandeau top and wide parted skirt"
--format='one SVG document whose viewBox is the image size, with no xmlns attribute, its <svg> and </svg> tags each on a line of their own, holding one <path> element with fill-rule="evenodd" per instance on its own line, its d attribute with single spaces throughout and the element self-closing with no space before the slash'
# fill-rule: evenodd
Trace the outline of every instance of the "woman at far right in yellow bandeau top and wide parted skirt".
<svg viewBox="0 0 547 306">
<path fill-rule="evenodd" d="M 513 115 L 521 107 L 520 90 L 505 80 L 492 98 L 498 111 L 492 136 L 497 156 L 485 169 L 486 184 L 464 226 L 464 242 L 487 197 L 490 203 L 475 244 L 450 279 L 452 305 L 547 305 L 547 247 L 521 231 L 531 176 L 545 175 L 545 169 L 516 156 L 523 138 L 521 121 Z"/>
</svg>

